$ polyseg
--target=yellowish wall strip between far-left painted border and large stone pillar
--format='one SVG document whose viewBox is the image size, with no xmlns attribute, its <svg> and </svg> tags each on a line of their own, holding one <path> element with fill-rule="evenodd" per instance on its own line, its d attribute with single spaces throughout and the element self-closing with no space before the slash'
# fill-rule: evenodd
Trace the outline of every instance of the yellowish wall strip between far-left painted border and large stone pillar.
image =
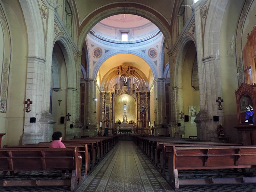
<svg viewBox="0 0 256 192">
<path fill-rule="evenodd" d="M 7 96 L 7 113 L 0 113 L 0 132 L 6 133 L 2 146 L 21 144 L 24 124 L 24 101 L 28 39 L 19 1 L 1 1 L 11 33 L 11 65 Z M 11 22 L 10 22 L 11 21 Z M 33 106 L 32 106 L 33 107 Z M 5 119 L 8 117 L 8 120 Z M 7 129 L 8 127 L 8 129 Z"/>
</svg>

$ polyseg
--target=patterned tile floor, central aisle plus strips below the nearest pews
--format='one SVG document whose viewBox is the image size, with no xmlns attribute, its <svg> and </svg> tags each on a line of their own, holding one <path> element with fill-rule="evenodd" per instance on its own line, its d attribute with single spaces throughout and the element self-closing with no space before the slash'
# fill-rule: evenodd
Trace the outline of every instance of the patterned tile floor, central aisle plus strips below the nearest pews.
<svg viewBox="0 0 256 192">
<path fill-rule="evenodd" d="M 55 173 L 56 174 L 56 173 Z M 57 174 L 58 176 L 58 174 Z M 67 192 L 69 187 L 0 187 L 0 192 Z M 174 192 L 132 141 L 119 141 L 76 192 Z M 256 192 L 256 184 L 181 186 L 177 192 Z"/>
</svg>

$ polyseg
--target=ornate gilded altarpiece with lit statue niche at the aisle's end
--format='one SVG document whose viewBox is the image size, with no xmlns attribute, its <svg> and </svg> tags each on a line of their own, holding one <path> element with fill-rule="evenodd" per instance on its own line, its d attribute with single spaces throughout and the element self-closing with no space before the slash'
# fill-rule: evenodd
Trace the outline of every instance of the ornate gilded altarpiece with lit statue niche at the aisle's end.
<svg viewBox="0 0 256 192">
<path fill-rule="evenodd" d="M 148 82 L 141 74 L 130 65 L 120 65 L 107 77 L 100 92 L 102 130 L 149 134 Z"/>
</svg>

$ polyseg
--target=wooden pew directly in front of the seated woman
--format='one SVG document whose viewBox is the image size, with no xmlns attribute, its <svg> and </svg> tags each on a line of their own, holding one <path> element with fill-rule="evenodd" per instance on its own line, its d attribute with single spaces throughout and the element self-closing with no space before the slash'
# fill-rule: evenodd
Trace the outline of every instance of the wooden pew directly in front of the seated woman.
<svg viewBox="0 0 256 192">
<path fill-rule="evenodd" d="M 29 145 L 4 145 L 3 148 L 49 148 L 49 143 L 29 144 Z M 66 148 L 77 148 L 78 156 L 82 157 L 82 164 L 84 164 L 84 176 L 90 172 L 90 153 L 88 152 L 87 144 L 66 144 Z"/>
</svg>

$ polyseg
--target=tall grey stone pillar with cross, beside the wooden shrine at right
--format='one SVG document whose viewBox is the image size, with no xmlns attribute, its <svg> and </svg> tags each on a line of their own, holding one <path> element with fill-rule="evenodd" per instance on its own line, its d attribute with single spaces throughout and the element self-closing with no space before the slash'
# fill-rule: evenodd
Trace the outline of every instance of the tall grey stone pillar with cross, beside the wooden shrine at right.
<svg viewBox="0 0 256 192">
<path fill-rule="evenodd" d="M 196 24 L 196 50 L 198 64 L 198 82 L 199 82 L 199 97 L 200 111 L 196 115 L 196 128 L 198 139 L 210 139 L 212 135 L 216 135 L 217 122 L 213 122 L 213 114 L 223 116 L 223 112 L 218 111 L 216 99 L 222 96 L 220 82 L 220 56 L 219 54 L 205 56 L 204 46 L 210 43 L 209 39 L 204 39 L 202 15 L 200 4 L 194 6 L 195 24 Z M 211 27 L 214 28 L 214 27 Z M 216 36 L 216 42 L 219 41 Z M 208 45 L 215 47 L 218 44 Z M 208 52 L 209 54 L 210 52 Z M 210 53 L 212 54 L 212 53 Z"/>
</svg>

